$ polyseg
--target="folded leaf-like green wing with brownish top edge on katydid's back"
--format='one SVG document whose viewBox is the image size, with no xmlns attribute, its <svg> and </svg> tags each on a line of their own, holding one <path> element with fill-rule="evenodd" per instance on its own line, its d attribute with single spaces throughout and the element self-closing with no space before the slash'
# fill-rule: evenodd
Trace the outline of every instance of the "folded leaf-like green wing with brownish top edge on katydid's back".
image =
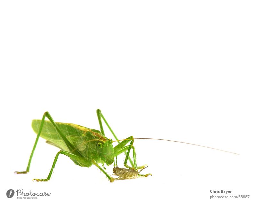
<svg viewBox="0 0 256 202">
<path fill-rule="evenodd" d="M 35 133 L 38 133 L 39 127 L 41 124 L 41 120 L 32 120 L 32 128 Z M 63 135 L 66 136 L 68 141 L 76 147 L 76 149 L 81 152 L 85 150 L 87 141 L 90 139 L 99 139 L 102 137 L 100 131 L 85 128 L 83 126 L 79 126 L 73 123 L 60 123 L 55 122 L 56 126 L 60 129 Z M 52 125 L 52 123 L 48 120 L 44 121 L 44 126 L 40 137 L 43 137 L 48 141 L 49 144 L 53 144 L 54 146 L 59 147 L 62 150 L 69 151 L 66 143 L 63 141 L 61 136 L 57 133 L 56 129 Z"/>
</svg>

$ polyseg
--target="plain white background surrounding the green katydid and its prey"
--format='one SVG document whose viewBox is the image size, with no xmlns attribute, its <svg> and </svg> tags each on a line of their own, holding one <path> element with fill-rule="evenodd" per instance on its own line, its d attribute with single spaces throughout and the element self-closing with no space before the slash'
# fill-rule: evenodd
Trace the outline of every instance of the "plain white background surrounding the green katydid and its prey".
<svg viewBox="0 0 256 202">
<path fill-rule="evenodd" d="M 1 201 L 8 189 L 51 192 L 36 201 L 255 201 L 255 19 L 254 1 L 1 1 Z M 13 174 L 27 167 L 32 119 L 99 129 L 98 108 L 120 139 L 240 155 L 136 140 L 152 176 L 110 183 L 60 155 L 50 182 L 32 182 L 59 151 L 40 138 L 31 172 Z"/>
</svg>

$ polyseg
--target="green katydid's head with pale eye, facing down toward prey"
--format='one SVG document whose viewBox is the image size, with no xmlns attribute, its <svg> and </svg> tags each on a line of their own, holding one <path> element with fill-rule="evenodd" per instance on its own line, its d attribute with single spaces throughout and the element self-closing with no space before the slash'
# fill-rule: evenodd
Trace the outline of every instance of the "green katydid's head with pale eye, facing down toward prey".
<svg viewBox="0 0 256 202">
<path fill-rule="evenodd" d="M 104 161 L 108 166 L 114 162 L 114 147 L 112 140 L 106 137 L 101 137 L 97 142 L 97 152 L 100 159 Z"/>
</svg>

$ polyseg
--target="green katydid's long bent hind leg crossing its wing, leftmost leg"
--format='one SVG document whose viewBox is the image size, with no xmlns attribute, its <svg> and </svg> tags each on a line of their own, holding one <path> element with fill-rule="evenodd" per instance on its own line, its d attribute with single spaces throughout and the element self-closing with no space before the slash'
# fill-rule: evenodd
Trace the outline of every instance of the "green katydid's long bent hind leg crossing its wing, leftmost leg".
<svg viewBox="0 0 256 202">
<path fill-rule="evenodd" d="M 41 120 L 41 124 L 40 124 L 39 130 L 38 130 L 37 136 L 36 136 L 36 142 L 35 142 L 35 144 L 34 144 L 34 146 L 33 146 L 32 152 L 31 152 L 30 157 L 29 157 L 29 160 L 28 160 L 28 167 L 27 167 L 27 170 L 26 170 L 26 171 L 21 171 L 21 172 L 16 171 L 15 173 L 17 173 L 17 174 L 23 174 L 23 173 L 28 173 L 28 172 L 29 172 L 29 168 L 30 168 L 30 164 L 31 164 L 31 159 L 32 159 L 33 154 L 34 154 L 34 151 L 35 151 L 35 149 L 36 149 L 36 144 L 37 144 L 37 142 L 38 142 L 39 136 L 40 136 L 40 134 L 41 134 L 41 132 L 42 132 L 42 129 L 43 129 L 43 126 L 44 126 L 44 119 L 45 119 L 45 117 L 47 117 L 47 118 L 51 121 L 52 125 L 54 126 L 54 128 L 56 129 L 56 131 L 60 134 L 61 138 L 63 139 L 63 141 L 64 141 L 65 144 L 67 145 L 69 151 L 72 151 L 72 153 L 76 154 L 76 156 L 81 156 L 81 154 L 77 151 L 77 149 L 68 141 L 68 139 L 66 138 L 66 136 L 64 136 L 64 135 L 61 133 L 61 131 L 59 130 L 59 128 L 57 128 L 57 126 L 56 126 L 54 120 L 52 119 L 52 117 L 51 117 L 51 115 L 50 115 L 50 113 L 49 113 L 49 112 L 45 112 L 44 115 L 43 115 L 43 118 L 42 118 L 42 120 Z"/>
</svg>

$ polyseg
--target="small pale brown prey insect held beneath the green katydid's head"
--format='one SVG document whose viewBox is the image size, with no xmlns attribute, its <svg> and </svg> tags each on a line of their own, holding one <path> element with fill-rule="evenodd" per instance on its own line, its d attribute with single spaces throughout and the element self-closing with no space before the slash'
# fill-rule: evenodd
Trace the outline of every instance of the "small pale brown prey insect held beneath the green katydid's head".
<svg viewBox="0 0 256 202">
<path fill-rule="evenodd" d="M 145 168 L 146 167 L 142 168 L 140 172 Z M 115 178 L 115 180 L 135 179 L 139 177 L 148 177 L 148 175 L 151 175 L 150 173 L 146 175 L 141 175 L 140 172 L 135 169 L 120 168 L 115 166 L 113 168 L 114 175 L 118 176 L 117 178 Z"/>
</svg>

